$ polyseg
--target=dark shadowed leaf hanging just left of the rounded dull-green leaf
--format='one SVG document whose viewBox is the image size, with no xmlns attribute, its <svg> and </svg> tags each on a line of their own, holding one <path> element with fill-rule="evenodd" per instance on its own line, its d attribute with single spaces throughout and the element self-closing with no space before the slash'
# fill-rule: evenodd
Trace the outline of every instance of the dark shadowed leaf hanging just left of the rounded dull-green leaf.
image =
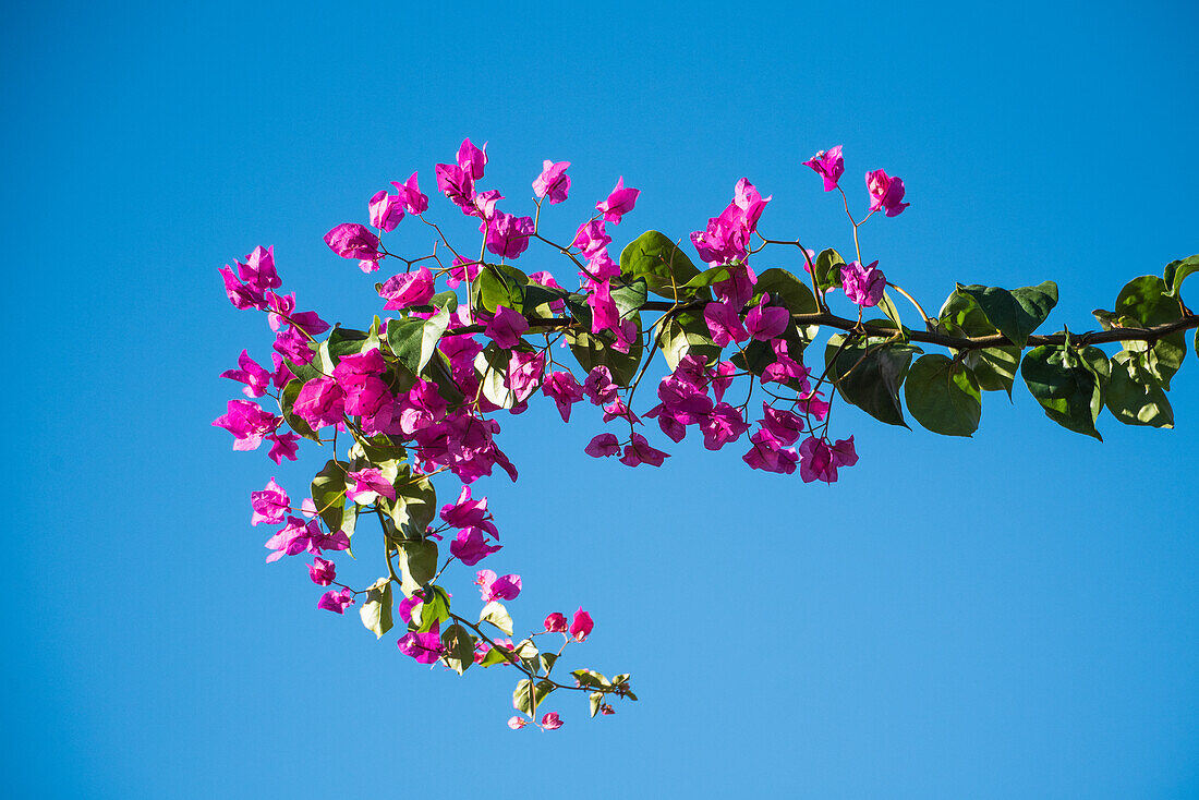
<svg viewBox="0 0 1199 800">
<path fill-rule="evenodd" d="M 827 375 L 846 402 L 858 407 L 874 419 L 887 425 L 908 427 L 899 404 L 899 386 L 903 384 L 911 356 L 922 350 L 914 344 L 875 341 L 867 344 L 854 339 L 840 350 L 845 337 L 836 335 L 825 348 Z"/>
</svg>

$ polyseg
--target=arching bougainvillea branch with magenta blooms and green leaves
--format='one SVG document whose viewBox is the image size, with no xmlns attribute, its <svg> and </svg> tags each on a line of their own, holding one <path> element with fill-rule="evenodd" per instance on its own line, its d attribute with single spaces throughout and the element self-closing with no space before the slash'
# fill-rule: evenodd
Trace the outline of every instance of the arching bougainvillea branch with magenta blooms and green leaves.
<svg viewBox="0 0 1199 800">
<path fill-rule="evenodd" d="M 842 185 L 839 146 L 806 164 L 824 191 L 842 197 L 854 239 L 848 263 L 832 248 L 818 253 L 800 239 L 758 234 L 772 197 L 747 179 L 734 186 L 728 206 L 689 236 L 703 269 L 681 239 L 657 230 L 635 236 L 615 260 L 608 225 L 621 224 L 640 194 L 622 176 L 594 212 L 572 221 L 566 235 L 573 229 L 573 237 L 561 243 L 562 236 L 543 230 L 550 216 L 543 211 L 568 199 L 570 163 L 544 161 L 531 182 L 532 216 L 501 210 L 499 191 L 478 188 L 487 163 L 487 146 L 466 139 L 453 163 L 434 168 L 446 199 L 478 219 L 475 241 L 454 246 L 428 218 L 429 198 L 417 173 L 393 181 L 394 194 L 382 190 L 369 198 L 369 225 L 342 223 L 325 235 L 335 253 L 363 272 L 403 265 L 374 287 L 381 312 L 393 315 L 375 317 L 363 329 L 330 327 L 317 312 L 297 311 L 294 294 L 279 294 L 273 248 L 254 249 L 236 271 L 222 267 L 230 302 L 264 312 L 275 343 L 270 369 L 243 350 L 237 368 L 222 374 L 243 384 L 249 399 L 230 401 L 213 425 L 234 435 L 234 450 L 270 443 L 276 464 L 299 459 L 303 439 L 326 449 L 326 463 L 299 501 L 273 476 L 251 493 L 251 524 L 278 527 L 266 541 L 266 560 L 312 555 L 308 577 L 325 589 L 317 607 L 344 614 L 359 606 L 363 625 L 379 638 L 398 614 L 404 627 L 398 650 L 417 663 L 459 674 L 476 664 L 513 669 L 520 675 L 512 694 L 518 714 L 508 720 L 513 729 L 561 727 L 558 711 L 542 710 L 555 691 L 585 692 L 592 716 L 613 714 L 613 700 L 637 699 L 628 674 L 609 679 L 576 668 L 560 680 L 566 648 L 592 631 L 588 612 L 550 613 L 514 642 L 505 603 L 519 597 L 522 576 L 474 569 L 504 546 L 487 498 L 474 498 L 471 485 L 495 468 L 513 481 L 518 476 L 499 446 L 495 417 L 523 411 L 538 392 L 564 422 L 573 416 L 578 423 L 576 407 L 598 408 L 604 429 L 584 449 L 590 457 L 659 467 L 669 457 L 659 434 L 679 443 L 698 431 L 709 450 L 741 443 L 749 469 L 797 470 L 805 482 L 832 483 L 839 469 L 857 462 L 854 437 L 830 433 L 835 403 L 905 427 L 906 408 L 929 431 L 969 437 L 983 392 L 1010 395 L 1017 373 L 1046 415 L 1072 431 L 1099 438 L 1096 422 L 1104 408 L 1128 425 L 1173 426 L 1165 392 L 1186 356 L 1183 333 L 1199 329 L 1199 315 L 1180 295 L 1183 279 L 1199 271 L 1197 255 L 1168 264 L 1161 277 L 1129 281 L 1113 311 L 1093 312 L 1101 330 L 1037 333 L 1058 303 L 1052 281 L 1011 290 L 957 284 L 932 317 L 888 279 L 879 260 L 866 263 L 858 228 L 876 212 L 899 216 L 910 203 L 902 179 L 870 170 L 861 196 L 868 205 L 855 217 Z M 384 237 L 405 216 L 430 230 L 430 252 L 409 257 L 385 247 Z M 526 273 L 513 265 L 534 243 L 564 258 L 578 276 L 577 289 L 564 288 L 549 271 Z M 767 247 L 796 248 L 796 266 L 807 275 L 757 272 L 754 255 Z M 915 308 L 923 330 L 904 325 L 888 290 Z M 852 315 L 833 313 L 831 302 Z M 825 329 L 833 332 L 814 369 L 805 363 L 807 349 Z M 570 353 L 568 363 L 555 357 L 555 344 Z M 1109 355 L 1098 347 L 1108 344 L 1122 348 Z M 920 345 L 945 353 L 926 354 Z M 655 368 L 657 402 L 634 410 L 645 393 L 637 396 L 637 389 Z M 755 392 L 764 398 L 760 416 Z M 278 414 L 253 402 L 266 396 Z M 743 399 L 735 404 L 729 399 L 735 397 Z M 652 422 L 658 433 L 649 429 Z M 445 489 L 451 476 L 457 499 L 439 507 L 433 479 Z M 356 589 L 338 581 L 338 565 L 325 557 L 351 545 L 370 552 L 363 519 L 378 523 L 384 575 Z M 457 579 L 450 570 L 456 564 L 474 572 L 468 595 L 480 593 L 477 614 L 464 613 L 470 603 L 447 589 Z"/>
</svg>

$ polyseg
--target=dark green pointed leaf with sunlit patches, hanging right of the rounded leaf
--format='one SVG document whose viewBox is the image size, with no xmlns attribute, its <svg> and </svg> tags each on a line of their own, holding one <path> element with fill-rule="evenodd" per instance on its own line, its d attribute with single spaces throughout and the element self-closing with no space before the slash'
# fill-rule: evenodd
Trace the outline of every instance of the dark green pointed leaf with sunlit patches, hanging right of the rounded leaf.
<svg viewBox="0 0 1199 800">
<path fill-rule="evenodd" d="M 1103 408 L 1103 387 L 1089 359 L 1072 353 L 1070 347 L 1041 345 L 1024 356 L 1020 375 L 1050 420 L 1103 441 L 1095 429 Z"/>
</svg>

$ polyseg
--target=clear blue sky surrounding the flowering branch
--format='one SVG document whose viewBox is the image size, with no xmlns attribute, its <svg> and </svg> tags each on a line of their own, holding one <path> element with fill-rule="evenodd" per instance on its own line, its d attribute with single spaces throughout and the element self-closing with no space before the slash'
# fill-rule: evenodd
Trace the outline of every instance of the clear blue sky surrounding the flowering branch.
<svg viewBox="0 0 1199 800">
<path fill-rule="evenodd" d="M 863 228 L 897 283 L 939 307 L 1053 278 L 1047 327 L 1087 329 L 1199 251 L 1193 4 L 414 6 L 10 10 L 11 796 L 1199 795 L 1194 353 L 1177 428 L 1107 417 L 1103 444 L 1023 386 L 972 440 L 840 411 L 862 459 L 835 487 L 694 444 L 597 463 L 598 420 L 542 404 L 504 421 L 522 480 L 481 488 L 518 626 L 589 608 L 579 657 L 641 697 L 596 722 L 566 698 L 554 734 L 504 726 L 512 675 L 429 673 L 264 565 L 248 492 L 319 464 L 210 426 L 218 373 L 269 351 L 217 267 L 275 245 L 301 305 L 368 318 L 374 278 L 321 235 L 468 136 L 511 210 L 572 161 L 564 230 L 623 175 L 617 246 L 686 236 L 745 175 L 767 235 L 846 248 L 801 166 L 839 143 L 846 186 L 906 181 Z"/>
</svg>

